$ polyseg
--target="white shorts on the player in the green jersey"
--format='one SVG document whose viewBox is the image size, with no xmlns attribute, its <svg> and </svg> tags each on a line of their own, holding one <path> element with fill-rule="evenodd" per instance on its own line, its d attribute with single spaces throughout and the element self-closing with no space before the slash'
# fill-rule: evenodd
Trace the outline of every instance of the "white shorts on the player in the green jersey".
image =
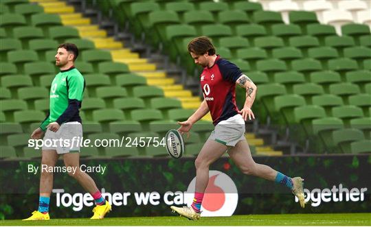
<svg viewBox="0 0 371 227">
<path fill-rule="evenodd" d="M 80 143 L 78 141 L 81 140 L 82 125 L 80 122 L 63 123 L 57 132 L 46 131 L 43 139 L 43 150 L 56 150 L 57 154 L 80 152 Z"/>
</svg>

